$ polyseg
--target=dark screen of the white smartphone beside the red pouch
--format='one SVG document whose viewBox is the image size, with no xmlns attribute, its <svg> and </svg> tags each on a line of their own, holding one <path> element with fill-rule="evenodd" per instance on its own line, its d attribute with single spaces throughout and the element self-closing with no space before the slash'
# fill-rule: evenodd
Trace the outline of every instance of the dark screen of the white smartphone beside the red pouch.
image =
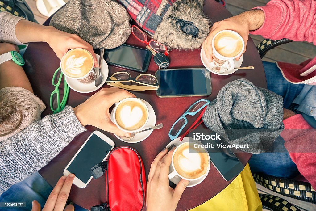
<svg viewBox="0 0 316 211">
<path fill-rule="evenodd" d="M 91 177 L 90 169 L 102 162 L 112 148 L 113 146 L 106 143 L 99 136 L 92 134 L 67 170 L 75 174 L 83 183 L 88 183 Z"/>
</svg>

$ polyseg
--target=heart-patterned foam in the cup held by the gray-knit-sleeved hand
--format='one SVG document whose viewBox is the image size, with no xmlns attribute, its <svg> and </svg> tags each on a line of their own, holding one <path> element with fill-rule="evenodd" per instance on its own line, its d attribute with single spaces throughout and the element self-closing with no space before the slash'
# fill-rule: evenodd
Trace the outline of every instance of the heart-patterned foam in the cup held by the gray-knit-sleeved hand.
<svg viewBox="0 0 316 211">
<path fill-rule="evenodd" d="M 120 127 L 126 130 L 137 130 L 146 123 L 147 115 L 143 102 L 126 100 L 118 105 L 115 119 Z"/>
</svg>

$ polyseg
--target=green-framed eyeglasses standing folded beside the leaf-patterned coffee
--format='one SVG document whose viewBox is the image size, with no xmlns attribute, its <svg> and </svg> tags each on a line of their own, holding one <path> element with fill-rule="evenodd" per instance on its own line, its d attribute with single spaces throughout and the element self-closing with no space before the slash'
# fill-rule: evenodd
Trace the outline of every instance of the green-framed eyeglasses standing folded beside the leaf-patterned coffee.
<svg viewBox="0 0 316 211">
<path fill-rule="evenodd" d="M 54 114 L 62 111 L 65 106 L 68 99 L 68 93 L 69 93 L 69 86 L 66 82 L 66 79 L 64 77 L 64 94 L 63 99 L 60 101 L 60 88 L 59 85 L 61 83 L 61 80 L 63 78 L 63 72 L 60 70 L 60 67 L 55 71 L 52 79 L 52 84 L 55 86 L 55 90 L 52 91 L 51 94 L 51 100 L 50 100 L 50 106 L 51 110 L 54 112 Z M 54 95 L 57 95 L 56 97 Z M 54 100 L 57 98 L 57 106 L 54 106 Z"/>
</svg>

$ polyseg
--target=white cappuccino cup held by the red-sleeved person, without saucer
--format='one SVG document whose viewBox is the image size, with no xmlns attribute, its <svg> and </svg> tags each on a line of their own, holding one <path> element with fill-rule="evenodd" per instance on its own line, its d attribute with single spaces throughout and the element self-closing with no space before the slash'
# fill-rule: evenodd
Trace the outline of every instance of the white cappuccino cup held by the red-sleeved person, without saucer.
<svg viewBox="0 0 316 211">
<path fill-rule="evenodd" d="M 228 70 L 234 69 L 234 59 L 239 57 L 245 49 L 245 42 L 235 31 L 222 30 L 217 32 L 212 40 L 213 63 Z"/>
</svg>

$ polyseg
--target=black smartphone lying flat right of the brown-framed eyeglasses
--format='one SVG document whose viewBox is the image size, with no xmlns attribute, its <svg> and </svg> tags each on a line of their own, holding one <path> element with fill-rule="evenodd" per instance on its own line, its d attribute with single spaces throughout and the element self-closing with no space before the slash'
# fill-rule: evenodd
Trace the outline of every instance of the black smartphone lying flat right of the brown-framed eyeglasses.
<svg viewBox="0 0 316 211">
<path fill-rule="evenodd" d="M 212 92 L 210 71 L 206 68 L 156 71 L 159 97 L 208 96 Z"/>
</svg>

